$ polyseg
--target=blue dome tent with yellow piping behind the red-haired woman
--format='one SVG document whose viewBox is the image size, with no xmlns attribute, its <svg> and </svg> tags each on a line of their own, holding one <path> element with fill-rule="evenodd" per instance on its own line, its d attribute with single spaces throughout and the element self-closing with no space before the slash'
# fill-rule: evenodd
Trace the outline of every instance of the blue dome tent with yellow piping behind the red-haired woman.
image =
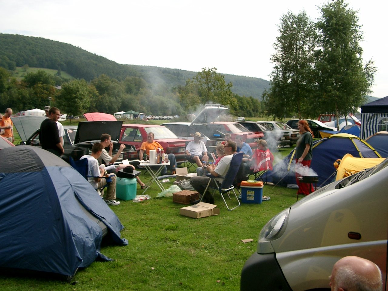
<svg viewBox="0 0 388 291">
<path fill-rule="evenodd" d="M 274 165 L 272 171 L 267 171 L 261 177 L 262 180 L 274 184 L 278 183 L 281 186 L 296 185 L 294 151 L 291 151 L 280 163 Z M 345 154 L 352 154 L 354 157 L 360 158 L 381 158 L 364 140 L 347 133 L 338 133 L 315 141 L 312 154 L 311 168 L 319 177 L 318 187 L 327 185 L 335 179 L 333 163 Z M 292 161 L 291 164 L 289 164 L 290 160 Z M 288 166 L 289 170 L 287 169 Z"/>
</svg>

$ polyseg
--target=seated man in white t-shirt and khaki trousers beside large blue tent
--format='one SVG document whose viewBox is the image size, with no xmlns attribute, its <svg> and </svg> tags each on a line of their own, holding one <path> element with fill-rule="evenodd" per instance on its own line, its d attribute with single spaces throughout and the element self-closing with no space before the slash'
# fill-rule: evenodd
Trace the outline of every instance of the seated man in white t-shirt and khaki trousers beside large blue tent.
<svg viewBox="0 0 388 291">
<path fill-rule="evenodd" d="M 94 189 L 100 189 L 107 184 L 106 196 L 104 201 L 109 205 L 119 205 L 120 201 L 116 201 L 116 175 L 114 173 L 109 174 L 112 182 L 107 183 L 105 178 L 105 168 L 99 167 L 98 158 L 101 156 L 102 144 L 96 142 L 93 144 L 92 153 L 90 155 L 82 156 L 81 159 L 88 159 L 88 181 Z"/>
</svg>

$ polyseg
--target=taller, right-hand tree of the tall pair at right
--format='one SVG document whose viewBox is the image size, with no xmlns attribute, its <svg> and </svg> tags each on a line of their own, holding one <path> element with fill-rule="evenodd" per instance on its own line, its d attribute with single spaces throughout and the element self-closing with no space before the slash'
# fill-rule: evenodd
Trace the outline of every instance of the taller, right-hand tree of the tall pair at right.
<svg viewBox="0 0 388 291">
<path fill-rule="evenodd" d="M 357 13 L 343 0 L 329 1 L 320 10 L 318 92 L 326 111 L 337 115 L 339 126 L 338 117 L 354 112 L 371 92 L 376 68 L 371 60 L 363 64 L 359 44 L 363 35 Z"/>
</svg>

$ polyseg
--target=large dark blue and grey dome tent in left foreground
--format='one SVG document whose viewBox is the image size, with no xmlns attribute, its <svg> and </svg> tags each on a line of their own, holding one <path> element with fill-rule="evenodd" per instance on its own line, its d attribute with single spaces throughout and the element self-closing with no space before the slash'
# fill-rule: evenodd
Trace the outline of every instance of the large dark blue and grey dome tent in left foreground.
<svg viewBox="0 0 388 291">
<path fill-rule="evenodd" d="M 107 226 L 114 242 L 128 244 L 109 206 L 54 154 L 28 145 L 10 147 L 0 151 L 0 165 L 0 267 L 72 276 L 104 258 L 102 229 L 77 201 Z"/>
</svg>

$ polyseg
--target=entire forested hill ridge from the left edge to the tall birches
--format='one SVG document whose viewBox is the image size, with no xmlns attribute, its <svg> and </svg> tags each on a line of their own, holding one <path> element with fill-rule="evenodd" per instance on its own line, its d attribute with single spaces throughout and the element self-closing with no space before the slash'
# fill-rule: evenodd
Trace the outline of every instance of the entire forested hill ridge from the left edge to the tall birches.
<svg viewBox="0 0 388 291">
<path fill-rule="evenodd" d="M 153 86 L 166 88 L 185 85 L 185 81 L 197 72 L 152 66 L 122 65 L 92 54 L 68 43 L 45 38 L 0 33 L 0 67 L 14 70 L 28 64 L 29 67 L 61 69 L 74 78 L 90 81 L 100 74 L 118 80 L 126 76 L 139 76 Z M 222 74 L 222 72 L 219 72 Z M 232 82 L 232 92 L 260 99 L 267 80 L 223 74 L 227 83 Z"/>
</svg>

